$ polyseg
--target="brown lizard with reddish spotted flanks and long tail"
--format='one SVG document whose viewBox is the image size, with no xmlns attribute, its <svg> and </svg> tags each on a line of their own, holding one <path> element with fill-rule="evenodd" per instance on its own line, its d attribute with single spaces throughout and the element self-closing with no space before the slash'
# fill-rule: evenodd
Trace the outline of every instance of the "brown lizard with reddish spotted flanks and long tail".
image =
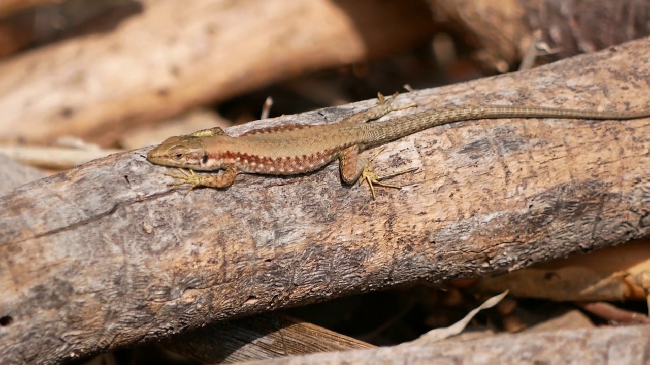
<svg viewBox="0 0 650 365">
<path fill-rule="evenodd" d="M 147 159 L 153 164 L 179 168 L 181 175 L 166 174 L 181 179 L 170 185 L 190 184 L 189 192 L 197 186 L 226 188 L 233 184 L 241 172 L 294 175 L 318 170 L 338 158 L 344 183 L 354 184 L 359 181 L 361 184 L 367 181 L 374 199 L 376 195 L 373 185 L 399 188 L 380 181 L 417 169 L 378 176 L 370 168 L 372 159 L 368 162 L 361 161 L 358 158 L 359 152 L 372 145 L 380 145 L 437 125 L 496 118 L 630 120 L 650 117 L 650 110 L 623 113 L 537 107 L 454 106 L 389 121 L 365 123 L 389 112 L 416 106 L 409 104 L 393 107 L 393 99 L 395 95 L 384 99 L 379 94 L 378 105 L 345 118 L 340 123 L 279 125 L 256 129 L 237 137 L 228 136 L 223 129 L 215 127 L 185 136 L 170 137 L 151 149 Z M 224 170 L 224 173 L 197 175 L 195 170 Z"/>
</svg>

